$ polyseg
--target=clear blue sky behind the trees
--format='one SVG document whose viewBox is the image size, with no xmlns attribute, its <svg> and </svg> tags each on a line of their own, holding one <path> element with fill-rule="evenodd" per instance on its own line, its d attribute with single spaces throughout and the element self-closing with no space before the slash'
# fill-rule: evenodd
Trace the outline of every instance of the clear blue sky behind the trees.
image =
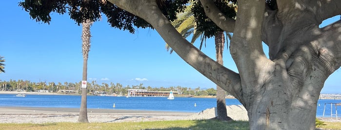
<svg viewBox="0 0 341 130">
<path fill-rule="evenodd" d="M 81 26 L 67 14 L 57 13 L 52 15 L 50 25 L 38 23 L 21 10 L 19 1 L 5 0 L 0 4 L 0 55 L 6 60 L 6 73 L 0 74 L 0 80 L 81 81 Z M 215 88 L 212 81 L 176 53 L 169 54 L 165 42 L 154 30 L 138 29 L 135 34 L 120 31 L 111 28 L 104 16 L 93 24 L 91 33 L 88 81 L 123 86 L 143 83 L 152 87 Z M 209 39 L 206 44 L 202 51 L 215 59 L 214 40 Z M 226 47 L 223 60 L 224 66 L 237 71 Z M 339 77 L 338 70 L 325 82 L 321 93 L 341 93 Z"/>
</svg>

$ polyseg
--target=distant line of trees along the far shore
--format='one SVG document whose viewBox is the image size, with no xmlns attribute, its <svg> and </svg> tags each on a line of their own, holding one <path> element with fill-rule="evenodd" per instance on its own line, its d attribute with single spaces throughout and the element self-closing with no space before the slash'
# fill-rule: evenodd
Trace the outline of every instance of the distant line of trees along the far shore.
<svg viewBox="0 0 341 130">
<path fill-rule="evenodd" d="M 127 85 L 123 86 L 120 83 L 110 82 L 98 84 L 97 81 L 91 81 L 87 83 L 87 93 L 94 94 L 97 92 L 106 92 L 107 94 L 122 94 L 126 95 L 128 89 L 146 89 L 148 91 L 177 91 L 179 95 L 191 95 L 191 96 L 216 96 L 217 91 L 214 88 L 209 88 L 206 90 L 202 90 L 200 87 L 198 88 L 189 88 L 189 87 L 181 87 L 181 86 L 171 86 L 171 87 L 151 87 L 151 86 L 143 86 L 143 83 L 139 85 Z M 10 80 L 10 81 L 1 81 L 0 80 L 0 91 L 18 91 L 18 92 L 51 92 L 58 93 L 59 90 L 72 90 L 75 91 L 76 94 L 81 93 L 81 82 L 31 82 L 24 80 Z"/>
</svg>

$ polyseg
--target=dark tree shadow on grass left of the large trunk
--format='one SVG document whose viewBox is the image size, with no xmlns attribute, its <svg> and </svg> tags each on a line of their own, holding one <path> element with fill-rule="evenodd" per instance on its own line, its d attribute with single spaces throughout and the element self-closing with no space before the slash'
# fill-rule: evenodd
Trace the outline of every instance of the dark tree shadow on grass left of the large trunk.
<svg viewBox="0 0 341 130">
<path fill-rule="evenodd" d="M 196 120 L 192 126 L 181 127 L 174 124 L 172 128 L 143 130 L 249 130 L 248 121 L 220 121 L 217 119 Z"/>
</svg>

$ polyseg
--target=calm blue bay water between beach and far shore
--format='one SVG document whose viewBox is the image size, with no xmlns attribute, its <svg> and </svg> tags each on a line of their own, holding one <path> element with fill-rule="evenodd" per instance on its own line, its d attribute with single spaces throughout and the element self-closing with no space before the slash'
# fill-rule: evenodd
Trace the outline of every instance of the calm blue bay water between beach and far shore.
<svg viewBox="0 0 341 130">
<path fill-rule="evenodd" d="M 340 103 L 341 100 L 319 100 L 316 116 L 322 116 L 324 103 L 329 102 Z M 115 108 L 113 108 L 114 103 L 116 106 Z M 195 103 L 197 104 L 197 107 L 194 107 Z M 226 105 L 240 104 L 241 103 L 237 99 L 226 99 Z M 0 106 L 79 108 L 80 96 L 27 95 L 26 97 L 16 97 L 14 94 L 0 94 Z M 207 108 L 212 108 L 216 106 L 216 98 L 176 97 L 174 100 L 168 100 L 167 97 L 87 97 L 87 107 L 99 109 L 152 110 L 197 113 Z M 338 107 L 338 111 L 339 113 L 341 113 L 341 106 Z M 334 105 L 333 114 L 335 114 Z M 330 117 L 330 104 L 327 104 L 324 116 Z"/>
</svg>

